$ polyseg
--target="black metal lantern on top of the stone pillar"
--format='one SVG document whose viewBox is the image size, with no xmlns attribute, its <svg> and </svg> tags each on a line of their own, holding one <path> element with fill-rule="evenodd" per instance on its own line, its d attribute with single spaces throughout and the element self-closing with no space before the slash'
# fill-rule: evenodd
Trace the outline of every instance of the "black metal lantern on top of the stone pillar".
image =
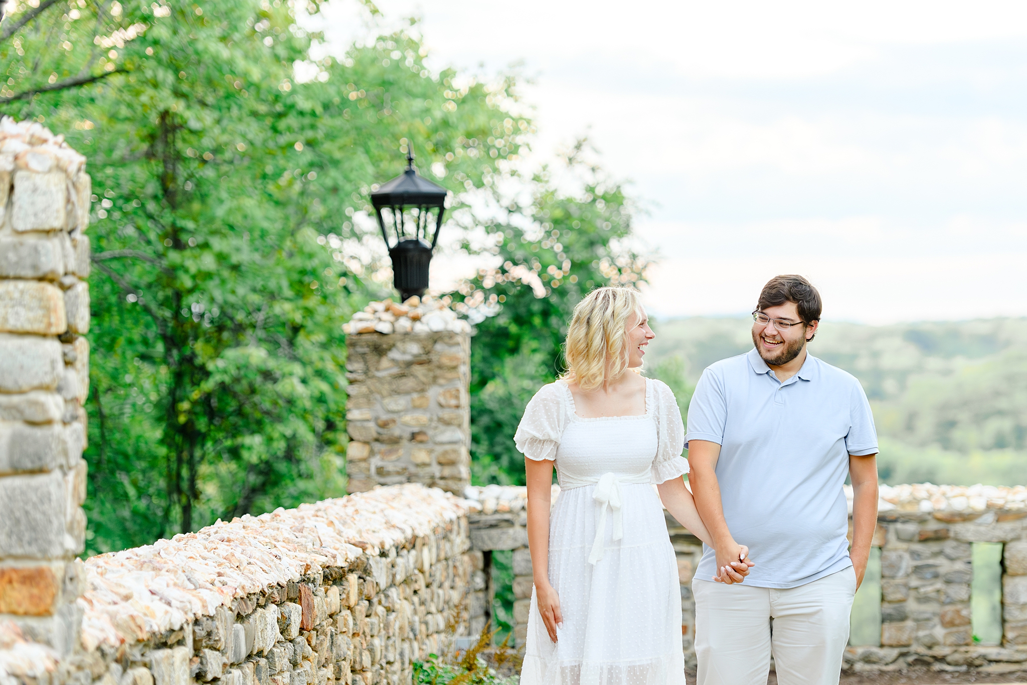
<svg viewBox="0 0 1027 685">
<path fill-rule="evenodd" d="M 428 287 L 428 264 L 431 251 L 439 241 L 439 229 L 446 212 L 447 190 L 431 183 L 414 169 L 414 154 L 407 146 L 407 170 L 371 193 L 371 203 L 378 215 L 388 256 L 392 260 L 392 282 L 404 300 L 420 297 Z M 387 219 L 382 210 L 391 215 L 395 244 L 389 244 Z M 430 244 L 431 212 L 435 212 L 434 230 Z"/>
</svg>

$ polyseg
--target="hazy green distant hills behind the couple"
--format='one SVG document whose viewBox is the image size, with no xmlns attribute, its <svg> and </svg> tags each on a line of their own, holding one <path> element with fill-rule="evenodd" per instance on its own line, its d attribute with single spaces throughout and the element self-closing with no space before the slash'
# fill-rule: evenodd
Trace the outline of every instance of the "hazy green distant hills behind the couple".
<svg viewBox="0 0 1027 685">
<path fill-rule="evenodd" d="M 752 348 L 751 326 L 748 318 L 657 321 L 647 367 L 690 394 L 707 366 Z M 809 349 L 863 384 L 885 482 L 1027 483 L 1027 318 L 825 322 Z"/>
</svg>

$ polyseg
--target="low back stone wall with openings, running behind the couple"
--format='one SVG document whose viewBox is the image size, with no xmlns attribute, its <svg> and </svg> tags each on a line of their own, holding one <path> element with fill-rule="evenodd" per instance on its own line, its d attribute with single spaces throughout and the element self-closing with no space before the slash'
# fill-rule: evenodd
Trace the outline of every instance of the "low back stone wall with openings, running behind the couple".
<svg viewBox="0 0 1027 685">
<path fill-rule="evenodd" d="M 554 504 L 559 493 L 554 486 Z M 472 547 L 486 554 L 514 550 L 515 636 L 523 645 L 532 592 L 526 488 L 470 487 L 465 494 L 480 507 L 469 518 Z M 851 511 L 851 489 L 846 488 L 846 496 Z M 878 506 L 873 545 L 880 553 L 880 571 L 877 578 L 868 571 L 861 593 L 878 593 L 871 599 L 880 606 L 880 637 L 875 645 L 850 647 L 846 668 L 863 672 L 931 664 L 939 671 L 1027 671 L 1027 488 L 882 486 Z M 667 525 L 681 581 L 685 662 L 694 669 L 691 582 L 702 543 L 670 515 Z M 995 645 L 974 642 L 974 542 L 1003 543 L 1002 638 Z M 490 597 L 495 592 L 488 588 Z"/>
</svg>

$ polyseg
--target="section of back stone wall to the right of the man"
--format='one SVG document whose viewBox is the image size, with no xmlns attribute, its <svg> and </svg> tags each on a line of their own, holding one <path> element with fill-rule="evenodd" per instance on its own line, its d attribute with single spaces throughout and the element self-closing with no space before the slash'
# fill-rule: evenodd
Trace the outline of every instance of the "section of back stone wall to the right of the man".
<svg viewBox="0 0 1027 685">
<path fill-rule="evenodd" d="M 880 641 L 849 648 L 846 662 L 858 671 L 1027 671 L 1027 488 L 926 484 L 882 486 L 880 494 L 880 570 L 868 578 L 880 583 Z M 1001 545 L 992 569 L 1000 599 L 997 587 L 994 597 L 974 596 L 975 543 Z M 975 599 L 993 601 L 1001 616 L 992 644 L 975 637 Z"/>
</svg>

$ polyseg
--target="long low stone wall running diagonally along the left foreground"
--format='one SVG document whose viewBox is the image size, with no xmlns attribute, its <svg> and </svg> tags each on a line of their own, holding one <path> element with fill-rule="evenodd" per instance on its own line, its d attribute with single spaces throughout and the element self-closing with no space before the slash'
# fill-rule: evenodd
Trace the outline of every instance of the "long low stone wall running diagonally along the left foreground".
<svg viewBox="0 0 1027 685">
<path fill-rule="evenodd" d="M 467 510 L 393 486 L 93 557 L 77 652 L 0 623 L 0 682 L 410 683 L 413 660 L 467 633 Z"/>
</svg>

